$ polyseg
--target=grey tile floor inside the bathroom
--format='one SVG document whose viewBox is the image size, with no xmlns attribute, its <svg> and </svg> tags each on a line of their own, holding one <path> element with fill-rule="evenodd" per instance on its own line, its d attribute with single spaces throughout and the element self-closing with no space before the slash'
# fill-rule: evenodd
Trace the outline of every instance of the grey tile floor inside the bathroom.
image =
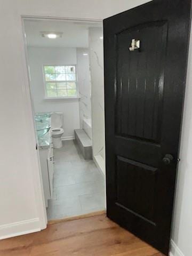
<svg viewBox="0 0 192 256">
<path fill-rule="evenodd" d="M 73 140 L 54 149 L 54 162 L 48 220 L 105 210 L 104 178 L 92 160 L 84 160 Z"/>
</svg>

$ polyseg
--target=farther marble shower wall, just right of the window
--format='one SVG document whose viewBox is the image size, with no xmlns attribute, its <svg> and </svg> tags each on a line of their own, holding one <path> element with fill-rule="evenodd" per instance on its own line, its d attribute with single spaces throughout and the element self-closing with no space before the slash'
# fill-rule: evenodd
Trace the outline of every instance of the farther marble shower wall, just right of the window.
<svg viewBox="0 0 192 256">
<path fill-rule="evenodd" d="M 80 127 L 83 119 L 91 118 L 91 81 L 89 67 L 89 49 L 77 48 L 77 79 L 79 96 Z"/>
</svg>

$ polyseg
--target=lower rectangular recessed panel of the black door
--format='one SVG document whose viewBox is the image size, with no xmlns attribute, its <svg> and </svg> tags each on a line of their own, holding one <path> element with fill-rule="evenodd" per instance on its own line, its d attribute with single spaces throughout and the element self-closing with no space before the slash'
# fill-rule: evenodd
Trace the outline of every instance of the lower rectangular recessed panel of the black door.
<svg viewBox="0 0 192 256">
<path fill-rule="evenodd" d="M 117 156 L 116 204 L 155 222 L 156 178 L 157 168 Z"/>
</svg>

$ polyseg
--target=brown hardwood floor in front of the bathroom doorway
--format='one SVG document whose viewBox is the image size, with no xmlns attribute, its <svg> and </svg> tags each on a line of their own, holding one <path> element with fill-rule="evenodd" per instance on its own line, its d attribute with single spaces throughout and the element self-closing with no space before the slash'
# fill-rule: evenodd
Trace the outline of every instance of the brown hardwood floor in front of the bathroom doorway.
<svg viewBox="0 0 192 256">
<path fill-rule="evenodd" d="M 161 256 L 105 214 L 48 225 L 0 241 L 1 256 Z"/>
</svg>

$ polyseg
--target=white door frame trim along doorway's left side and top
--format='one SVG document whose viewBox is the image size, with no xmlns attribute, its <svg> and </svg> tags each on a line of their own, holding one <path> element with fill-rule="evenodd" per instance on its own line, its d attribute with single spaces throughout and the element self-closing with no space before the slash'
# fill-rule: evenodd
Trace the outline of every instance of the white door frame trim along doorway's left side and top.
<svg viewBox="0 0 192 256">
<path fill-rule="evenodd" d="M 28 59 L 27 59 L 27 44 L 26 44 L 26 37 L 25 37 L 25 27 L 24 27 L 24 20 L 26 19 L 34 19 L 34 20 L 61 20 L 61 21 L 76 21 L 76 22 L 98 22 L 101 23 L 101 19 L 82 19 L 82 18 L 67 18 L 67 17 L 54 17 L 54 16 L 35 16 L 35 15 L 21 15 L 22 20 L 22 31 L 23 31 L 23 47 L 22 47 L 22 54 L 23 54 L 23 72 L 25 73 L 25 102 L 26 102 L 26 120 L 29 118 L 30 123 L 33 123 L 33 127 L 29 132 L 31 133 L 31 145 L 34 145 L 34 150 L 31 152 L 31 159 L 33 163 L 33 183 L 34 183 L 34 191 L 35 191 L 35 198 L 36 198 L 36 205 L 37 205 L 37 212 L 39 216 L 39 229 L 44 229 L 47 226 L 47 215 L 46 215 L 46 206 L 44 200 L 44 191 L 43 191 L 43 181 L 42 181 L 42 172 L 41 172 L 41 165 L 39 162 L 39 152 L 38 149 L 36 150 L 36 130 L 35 130 L 35 123 L 34 123 L 34 109 L 33 109 L 33 101 L 31 100 L 31 91 L 30 91 L 30 77 L 29 77 L 29 70 L 28 70 Z"/>
</svg>

